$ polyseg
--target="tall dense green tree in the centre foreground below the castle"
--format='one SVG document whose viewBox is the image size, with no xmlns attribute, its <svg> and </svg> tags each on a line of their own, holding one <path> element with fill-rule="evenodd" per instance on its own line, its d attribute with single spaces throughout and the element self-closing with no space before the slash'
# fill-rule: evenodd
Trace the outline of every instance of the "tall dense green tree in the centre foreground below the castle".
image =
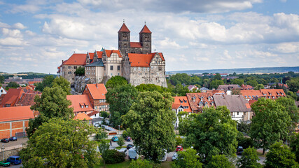
<svg viewBox="0 0 299 168">
<path fill-rule="evenodd" d="M 165 155 L 165 149 L 174 146 L 173 101 L 170 93 L 141 92 L 137 102 L 123 116 L 134 145 L 138 146 L 137 152 L 146 159 L 158 162 Z"/>
</svg>

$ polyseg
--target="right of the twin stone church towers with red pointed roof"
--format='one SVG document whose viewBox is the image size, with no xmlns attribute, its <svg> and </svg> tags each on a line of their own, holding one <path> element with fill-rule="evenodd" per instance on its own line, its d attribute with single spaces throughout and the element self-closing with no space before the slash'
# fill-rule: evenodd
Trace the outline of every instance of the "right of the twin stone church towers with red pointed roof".
<svg viewBox="0 0 299 168">
<path fill-rule="evenodd" d="M 146 25 L 139 32 L 139 41 L 142 46 L 142 53 L 151 53 L 151 31 Z"/>
</svg>

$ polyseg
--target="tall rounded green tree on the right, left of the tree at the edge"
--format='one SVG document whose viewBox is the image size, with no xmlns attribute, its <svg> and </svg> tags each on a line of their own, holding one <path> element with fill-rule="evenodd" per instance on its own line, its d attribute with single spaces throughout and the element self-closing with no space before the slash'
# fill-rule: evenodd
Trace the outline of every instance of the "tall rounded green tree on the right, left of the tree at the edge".
<svg viewBox="0 0 299 168">
<path fill-rule="evenodd" d="M 258 99 L 251 110 L 256 116 L 252 118 L 249 135 L 256 148 L 263 148 L 265 154 L 265 150 L 275 141 L 286 139 L 291 118 L 284 106 L 272 99 Z"/>
</svg>

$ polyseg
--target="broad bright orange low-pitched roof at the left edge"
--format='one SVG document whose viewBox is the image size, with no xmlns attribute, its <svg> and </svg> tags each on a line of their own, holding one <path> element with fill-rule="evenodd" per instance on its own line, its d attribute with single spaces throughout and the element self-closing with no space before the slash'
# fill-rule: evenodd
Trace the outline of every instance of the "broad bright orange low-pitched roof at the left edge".
<svg viewBox="0 0 299 168">
<path fill-rule="evenodd" d="M 30 106 L 13 106 L 0 108 L 0 122 L 29 120 L 34 118 L 33 111 Z"/>
</svg>

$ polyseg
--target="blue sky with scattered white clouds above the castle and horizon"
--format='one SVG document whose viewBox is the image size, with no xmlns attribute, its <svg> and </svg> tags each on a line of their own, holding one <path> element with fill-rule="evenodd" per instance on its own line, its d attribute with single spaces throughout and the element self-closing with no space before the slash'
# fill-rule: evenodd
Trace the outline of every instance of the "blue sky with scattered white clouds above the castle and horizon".
<svg viewBox="0 0 299 168">
<path fill-rule="evenodd" d="M 299 66 L 298 0 L 0 0 L 0 71 L 57 72 L 146 22 L 166 71 Z"/>
</svg>

